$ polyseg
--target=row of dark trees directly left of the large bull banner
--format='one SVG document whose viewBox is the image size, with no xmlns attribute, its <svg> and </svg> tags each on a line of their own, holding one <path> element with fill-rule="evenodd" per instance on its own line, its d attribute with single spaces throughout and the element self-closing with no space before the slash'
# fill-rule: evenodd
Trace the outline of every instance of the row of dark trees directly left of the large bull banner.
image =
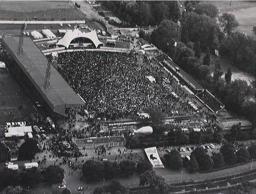
<svg viewBox="0 0 256 194">
<path fill-rule="evenodd" d="M 127 177 L 133 175 L 135 172 L 143 173 L 151 170 L 150 162 L 141 160 L 135 163 L 130 160 L 117 162 L 99 162 L 94 160 L 87 160 L 83 166 L 83 176 L 88 182 L 97 180 L 110 180 L 120 176 Z"/>
</svg>

